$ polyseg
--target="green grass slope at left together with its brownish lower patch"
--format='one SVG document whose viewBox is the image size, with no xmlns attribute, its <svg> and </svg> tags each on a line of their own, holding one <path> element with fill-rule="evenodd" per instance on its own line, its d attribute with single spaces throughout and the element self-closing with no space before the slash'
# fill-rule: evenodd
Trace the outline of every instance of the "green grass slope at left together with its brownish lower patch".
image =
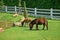
<svg viewBox="0 0 60 40">
<path fill-rule="evenodd" d="M 12 26 L 13 22 L 20 21 L 23 17 L 22 15 L 13 16 L 14 14 L 10 13 L 0 13 L 0 27 L 4 29 Z"/>
</svg>

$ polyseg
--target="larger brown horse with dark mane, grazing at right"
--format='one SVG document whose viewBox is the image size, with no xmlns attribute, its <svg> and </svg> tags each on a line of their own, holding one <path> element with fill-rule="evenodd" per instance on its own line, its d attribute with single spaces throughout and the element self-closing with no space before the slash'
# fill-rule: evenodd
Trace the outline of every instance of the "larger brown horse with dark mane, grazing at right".
<svg viewBox="0 0 60 40">
<path fill-rule="evenodd" d="M 30 30 L 32 30 L 34 24 L 36 24 L 36 30 L 38 30 L 38 25 L 43 25 L 42 30 L 44 30 L 45 26 L 48 30 L 48 21 L 46 18 L 36 18 L 36 19 L 32 20 L 29 24 Z"/>
</svg>

